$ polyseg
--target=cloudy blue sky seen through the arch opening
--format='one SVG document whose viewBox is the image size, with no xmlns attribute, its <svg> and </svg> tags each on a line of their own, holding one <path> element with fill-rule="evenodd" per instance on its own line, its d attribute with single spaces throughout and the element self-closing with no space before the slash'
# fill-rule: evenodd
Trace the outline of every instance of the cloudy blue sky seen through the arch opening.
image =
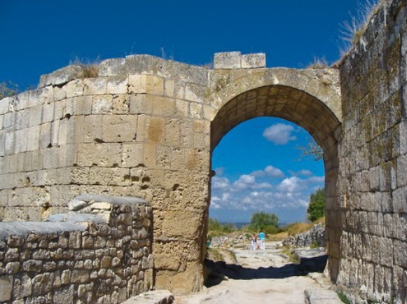
<svg viewBox="0 0 407 304">
<path fill-rule="evenodd" d="M 254 118 L 230 130 L 212 154 L 209 215 L 244 222 L 265 211 L 280 223 L 305 221 L 310 193 L 324 186 L 322 160 L 301 159 L 298 150 L 310 140 L 302 127 L 280 118 Z"/>
</svg>

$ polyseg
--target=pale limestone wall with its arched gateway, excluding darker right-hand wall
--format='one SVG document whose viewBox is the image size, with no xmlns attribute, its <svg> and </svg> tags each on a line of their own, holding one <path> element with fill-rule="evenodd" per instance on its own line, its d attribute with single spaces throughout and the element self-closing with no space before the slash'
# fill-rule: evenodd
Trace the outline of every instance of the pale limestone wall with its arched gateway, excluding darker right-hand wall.
<svg viewBox="0 0 407 304">
<path fill-rule="evenodd" d="M 263 54 L 219 53 L 214 69 L 148 55 L 69 66 L 1 102 L 4 220 L 64 212 L 77 195 L 142 197 L 153 207 L 157 288 L 201 289 L 210 157 L 238 123 L 277 116 L 324 149 L 329 267 L 340 258 L 337 69 L 266 69 Z"/>
</svg>

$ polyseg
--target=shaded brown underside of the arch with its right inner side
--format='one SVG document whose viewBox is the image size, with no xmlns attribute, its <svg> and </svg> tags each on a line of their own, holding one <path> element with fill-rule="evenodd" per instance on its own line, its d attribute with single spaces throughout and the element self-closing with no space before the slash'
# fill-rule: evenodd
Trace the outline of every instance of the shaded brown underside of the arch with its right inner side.
<svg viewBox="0 0 407 304">
<path fill-rule="evenodd" d="M 326 272 L 336 281 L 340 260 L 340 213 L 338 212 L 338 140 L 341 123 L 326 104 L 307 92 L 286 85 L 266 85 L 242 92 L 226 102 L 211 123 L 211 155 L 222 137 L 251 118 L 284 118 L 307 130 L 324 151 Z"/>
</svg>

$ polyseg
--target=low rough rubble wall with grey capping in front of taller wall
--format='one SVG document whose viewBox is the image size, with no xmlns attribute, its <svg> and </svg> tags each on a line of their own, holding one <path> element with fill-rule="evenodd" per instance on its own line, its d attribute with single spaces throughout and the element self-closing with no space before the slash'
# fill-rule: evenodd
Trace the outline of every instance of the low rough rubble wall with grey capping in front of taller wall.
<svg viewBox="0 0 407 304">
<path fill-rule="evenodd" d="M 153 286 L 144 200 L 81 195 L 69 209 L 0 223 L 1 303 L 122 303 Z"/>
</svg>

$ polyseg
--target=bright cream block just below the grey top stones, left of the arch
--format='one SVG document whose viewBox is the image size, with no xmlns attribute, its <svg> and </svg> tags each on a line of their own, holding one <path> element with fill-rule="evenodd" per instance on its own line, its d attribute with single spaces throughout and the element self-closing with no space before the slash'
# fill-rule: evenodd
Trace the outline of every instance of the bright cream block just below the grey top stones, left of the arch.
<svg viewBox="0 0 407 304">
<path fill-rule="evenodd" d="M 151 75 L 130 75 L 129 92 L 163 95 L 163 78 Z"/>
</svg>

